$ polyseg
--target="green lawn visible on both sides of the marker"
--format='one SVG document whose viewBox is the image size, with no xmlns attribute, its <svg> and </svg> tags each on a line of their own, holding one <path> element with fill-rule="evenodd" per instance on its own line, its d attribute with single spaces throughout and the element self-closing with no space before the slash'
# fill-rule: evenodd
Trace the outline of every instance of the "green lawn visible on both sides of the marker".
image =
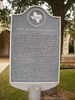
<svg viewBox="0 0 75 100">
<path fill-rule="evenodd" d="M 61 70 L 58 88 L 75 91 L 75 69 Z M 28 92 L 10 86 L 9 67 L 0 74 L 0 100 L 28 100 Z"/>
</svg>

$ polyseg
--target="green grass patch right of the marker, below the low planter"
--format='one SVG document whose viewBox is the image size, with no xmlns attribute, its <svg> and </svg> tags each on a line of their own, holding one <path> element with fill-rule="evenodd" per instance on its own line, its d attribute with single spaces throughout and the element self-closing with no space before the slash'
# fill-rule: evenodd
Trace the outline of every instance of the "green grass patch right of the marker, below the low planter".
<svg viewBox="0 0 75 100">
<path fill-rule="evenodd" d="M 70 92 L 75 91 L 75 69 L 60 71 L 60 84 L 58 87 Z"/>
</svg>

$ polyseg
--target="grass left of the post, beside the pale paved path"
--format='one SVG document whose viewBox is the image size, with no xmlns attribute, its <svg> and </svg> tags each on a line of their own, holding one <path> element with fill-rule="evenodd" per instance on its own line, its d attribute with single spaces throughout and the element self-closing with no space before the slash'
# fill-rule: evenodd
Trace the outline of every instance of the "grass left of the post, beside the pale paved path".
<svg viewBox="0 0 75 100">
<path fill-rule="evenodd" d="M 27 92 L 10 86 L 9 67 L 0 74 L 0 100 L 28 100 Z"/>
</svg>

